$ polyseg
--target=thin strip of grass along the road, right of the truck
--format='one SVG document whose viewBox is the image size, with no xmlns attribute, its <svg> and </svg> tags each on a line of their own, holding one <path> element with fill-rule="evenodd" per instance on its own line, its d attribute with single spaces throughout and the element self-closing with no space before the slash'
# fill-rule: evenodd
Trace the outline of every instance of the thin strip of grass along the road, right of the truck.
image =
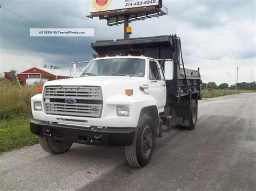
<svg viewBox="0 0 256 191">
<path fill-rule="evenodd" d="M 203 89 L 203 98 L 212 98 L 212 97 L 220 97 L 226 95 L 240 94 L 240 93 L 253 93 L 256 90 L 231 90 L 231 89 L 212 89 L 206 90 Z"/>
</svg>

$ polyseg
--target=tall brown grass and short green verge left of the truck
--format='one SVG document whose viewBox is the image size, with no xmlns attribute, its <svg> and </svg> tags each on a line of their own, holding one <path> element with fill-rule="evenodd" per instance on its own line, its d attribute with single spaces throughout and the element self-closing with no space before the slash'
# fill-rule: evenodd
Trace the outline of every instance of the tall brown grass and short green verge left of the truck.
<svg viewBox="0 0 256 191">
<path fill-rule="evenodd" d="M 19 86 L 0 82 L 0 153 L 38 143 L 29 129 L 30 98 L 37 86 Z"/>
</svg>

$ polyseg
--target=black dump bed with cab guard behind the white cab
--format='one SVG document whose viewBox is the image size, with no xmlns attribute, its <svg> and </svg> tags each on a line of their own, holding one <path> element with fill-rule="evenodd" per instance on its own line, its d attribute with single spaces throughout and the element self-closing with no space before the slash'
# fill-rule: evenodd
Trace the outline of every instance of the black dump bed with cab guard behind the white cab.
<svg viewBox="0 0 256 191">
<path fill-rule="evenodd" d="M 172 59 L 173 80 L 166 81 L 167 94 L 174 100 L 177 97 L 197 93 L 200 98 L 200 73 L 198 70 L 180 67 L 180 38 L 175 36 L 157 36 L 132 39 L 98 40 L 91 47 L 100 57 L 142 53 L 154 59 Z M 164 65 L 163 65 L 164 68 Z"/>
</svg>

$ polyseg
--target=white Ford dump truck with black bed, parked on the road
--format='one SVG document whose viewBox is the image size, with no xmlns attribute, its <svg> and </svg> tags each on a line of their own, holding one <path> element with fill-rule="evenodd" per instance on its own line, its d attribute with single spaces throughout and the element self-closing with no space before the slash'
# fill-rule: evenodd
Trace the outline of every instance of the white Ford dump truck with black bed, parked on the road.
<svg viewBox="0 0 256 191">
<path fill-rule="evenodd" d="M 184 68 L 176 35 L 96 41 L 92 48 L 100 58 L 78 78 L 46 82 L 31 98 L 37 121 L 30 129 L 46 152 L 60 154 L 73 143 L 124 146 L 129 164 L 144 167 L 164 131 L 195 128 L 199 68 Z"/>
</svg>

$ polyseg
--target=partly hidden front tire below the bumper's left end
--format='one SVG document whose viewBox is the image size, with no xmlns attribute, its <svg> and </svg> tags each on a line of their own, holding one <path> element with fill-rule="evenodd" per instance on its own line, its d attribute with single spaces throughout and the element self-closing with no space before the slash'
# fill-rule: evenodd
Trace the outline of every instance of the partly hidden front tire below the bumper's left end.
<svg viewBox="0 0 256 191">
<path fill-rule="evenodd" d="M 43 150 L 51 154 L 64 153 L 68 151 L 73 144 L 45 137 L 39 137 L 39 143 L 42 146 Z"/>
</svg>

